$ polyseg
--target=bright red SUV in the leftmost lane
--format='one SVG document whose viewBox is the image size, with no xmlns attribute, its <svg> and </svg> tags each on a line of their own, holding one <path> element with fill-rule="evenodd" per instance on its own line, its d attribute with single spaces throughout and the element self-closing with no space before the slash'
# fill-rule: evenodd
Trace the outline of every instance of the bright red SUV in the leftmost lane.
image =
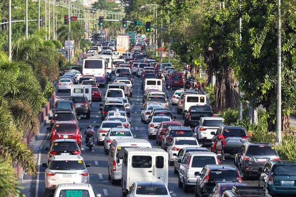
<svg viewBox="0 0 296 197">
<path fill-rule="evenodd" d="M 49 130 L 48 128 L 46 128 Z M 51 131 L 49 132 L 49 143 L 52 145 L 55 139 L 74 139 L 76 140 L 79 147 L 82 144 L 82 135 L 80 131 L 84 128 L 78 128 L 77 122 L 73 121 L 61 121 L 55 122 Z"/>
</svg>

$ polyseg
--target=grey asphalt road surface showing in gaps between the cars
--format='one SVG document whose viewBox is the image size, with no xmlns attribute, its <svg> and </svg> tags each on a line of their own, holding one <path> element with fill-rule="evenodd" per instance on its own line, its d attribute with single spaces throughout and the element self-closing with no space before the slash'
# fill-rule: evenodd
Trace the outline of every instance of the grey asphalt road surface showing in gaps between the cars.
<svg viewBox="0 0 296 197">
<path fill-rule="evenodd" d="M 133 97 L 130 99 L 131 102 L 131 118 L 130 121 L 132 122 L 131 131 L 134 134 L 137 134 L 136 138 L 144 138 L 148 140 L 148 126 L 141 122 L 141 108 L 142 108 L 142 90 L 141 90 L 141 79 L 134 76 L 134 91 Z M 114 77 L 112 78 L 114 80 Z M 110 82 L 109 82 L 110 83 Z M 107 87 L 107 86 L 106 86 Z M 100 88 L 102 93 L 106 92 L 106 88 Z M 172 95 L 174 94 L 175 90 L 171 90 L 170 92 L 163 89 L 166 95 L 169 97 L 171 102 Z M 56 96 L 59 99 L 69 99 L 69 92 L 61 92 L 57 93 Z M 87 120 L 85 116 L 81 116 L 79 120 L 79 127 L 84 127 L 88 124 L 91 124 L 92 127 L 96 125 L 100 125 L 101 123 L 101 112 L 99 111 L 99 102 L 93 102 L 92 104 L 92 111 L 91 111 L 91 118 Z M 177 114 L 177 107 L 169 105 L 169 108 L 175 113 L 177 117 L 176 121 L 181 122 L 184 124 L 183 116 Z M 45 196 L 45 184 L 44 184 L 44 171 L 45 168 L 41 167 L 42 163 L 47 162 L 47 151 L 44 148 L 49 147 L 49 140 L 48 140 L 48 131 L 46 131 L 46 127 L 48 123 L 41 128 L 41 132 L 39 136 L 36 138 L 36 142 L 34 145 L 34 152 L 38 154 L 37 164 L 38 164 L 38 174 L 32 180 L 31 184 L 31 196 L 32 197 L 44 197 Z M 83 133 L 82 133 L 83 134 Z M 155 139 L 150 139 L 149 142 L 152 144 L 154 148 L 160 148 L 155 143 Z M 97 143 L 96 143 L 97 144 Z M 210 148 L 210 144 L 205 144 L 205 147 Z M 90 184 L 93 186 L 95 194 L 102 194 L 102 197 L 119 197 L 122 196 L 122 190 L 120 183 L 117 185 L 112 185 L 111 181 L 108 180 L 108 171 L 107 171 L 107 164 L 108 164 L 108 156 L 105 155 L 103 146 L 95 146 L 93 150 L 90 151 L 87 147 L 85 147 L 85 140 L 83 134 L 83 145 L 82 147 L 85 150 L 82 152 L 82 156 L 85 160 L 85 163 L 90 163 L 91 167 L 88 167 L 89 170 L 89 178 Z M 233 164 L 233 156 L 226 155 L 226 159 L 222 161 L 222 164 Z M 174 190 L 174 194 L 172 196 L 177 197 L 193 197 L 194 196 L 194 188 L 189 190 L 188 193 L 184 193 L 182 188 L 178 188 L 178 175 L 174 174 L 174 166 L 169 166 L 169 182 L 168 187 L 170 190 Z M 258 177 L 251 177 L 248 181 L 244 181 L 249 186 L 258 186 Z"/>
</svg>

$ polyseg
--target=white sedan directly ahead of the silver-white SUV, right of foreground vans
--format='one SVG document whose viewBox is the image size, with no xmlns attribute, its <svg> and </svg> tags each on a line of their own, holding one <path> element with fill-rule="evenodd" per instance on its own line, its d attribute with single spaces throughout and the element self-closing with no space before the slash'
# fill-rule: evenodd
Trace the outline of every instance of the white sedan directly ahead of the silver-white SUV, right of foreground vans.
<svg viewBox="0 0 296 197">
<path fill-rule="evenodd" d="M 200 147 L 200 146 L 195 137 L 174 137 L 167 148 L 170 165 L 174 165 L 174 161 L 179 150 L 184 147 Z"/>
</svg>

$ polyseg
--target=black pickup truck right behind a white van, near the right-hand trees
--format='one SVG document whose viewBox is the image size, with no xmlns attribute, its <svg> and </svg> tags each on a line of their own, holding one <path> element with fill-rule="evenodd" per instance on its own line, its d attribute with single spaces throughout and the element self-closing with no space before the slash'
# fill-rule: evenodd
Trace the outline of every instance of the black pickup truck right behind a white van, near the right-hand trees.
<svg viewBox="0 0 296 197">
<path fill-rule="evenodd" d="M 191 105 L 185 114 L 184 126 L 195 127 L 201 117 L 215 117 L 208 105 Z"/>
</svg>

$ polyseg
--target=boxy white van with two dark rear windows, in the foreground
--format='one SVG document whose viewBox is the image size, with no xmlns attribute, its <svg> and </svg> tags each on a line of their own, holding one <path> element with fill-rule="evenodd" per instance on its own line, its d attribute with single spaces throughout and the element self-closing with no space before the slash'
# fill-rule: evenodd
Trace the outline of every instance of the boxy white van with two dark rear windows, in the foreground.
<svg viewBox="0 0 296 197">
<path fill-rule="evenodd" d="M 116 163 L 119 163 L 117 160 Z M 122 161 L 122 191 L 134 182 L 151 181 L 168 185 L 168 153 L 160 148 L 125 148 Z"/>
</svg>

